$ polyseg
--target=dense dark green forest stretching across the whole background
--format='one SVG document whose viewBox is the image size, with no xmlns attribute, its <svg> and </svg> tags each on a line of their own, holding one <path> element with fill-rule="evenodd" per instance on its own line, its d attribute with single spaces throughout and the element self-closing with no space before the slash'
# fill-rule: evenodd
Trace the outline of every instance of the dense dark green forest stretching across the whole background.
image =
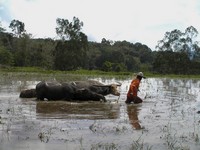
<svg viewBox="0 0 200 150">
<path fill-rule="evenodd" d="M 53 70 L 149 71 L 161 74 L 200 74 L 198 31 L 190 26 L 166 32 L 154 50 L 142 43 L 88 41 L 83 22 L 57 18 L 59 39 L 35 39 L 25 24 L 12 20 L 7 32 L 0 23 L 0 65 L 34 66 Z"/>
</svg>

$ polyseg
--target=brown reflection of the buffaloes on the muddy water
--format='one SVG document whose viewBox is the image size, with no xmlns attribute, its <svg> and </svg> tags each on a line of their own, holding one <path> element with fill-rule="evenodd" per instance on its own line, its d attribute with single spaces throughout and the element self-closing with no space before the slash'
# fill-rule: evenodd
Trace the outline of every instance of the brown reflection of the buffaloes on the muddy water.
<svg viewBox="0 0 200 150">
<path fill-rule="evenodd" d="M 40 101 L 36 104 L 37 118 L 40 119 L 117 119 L 119 109 L 119 104 L 101 102 Z"/>
</svg>

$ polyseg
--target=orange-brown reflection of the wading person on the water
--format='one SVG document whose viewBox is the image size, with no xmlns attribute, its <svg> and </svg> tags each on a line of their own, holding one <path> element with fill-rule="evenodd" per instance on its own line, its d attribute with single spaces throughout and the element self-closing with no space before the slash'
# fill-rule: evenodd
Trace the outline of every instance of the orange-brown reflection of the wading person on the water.
<svg viewBox="0 0 200 150">
<path fill-rule="evenodd" d="M 133 128 L 135 129 L 141 129 L 141 125 L 139 124 L 138 120 L 138 106 L 135 105 L 127 105 L 127 114 L 129 117 L 129 121 Z"/>
</svg>

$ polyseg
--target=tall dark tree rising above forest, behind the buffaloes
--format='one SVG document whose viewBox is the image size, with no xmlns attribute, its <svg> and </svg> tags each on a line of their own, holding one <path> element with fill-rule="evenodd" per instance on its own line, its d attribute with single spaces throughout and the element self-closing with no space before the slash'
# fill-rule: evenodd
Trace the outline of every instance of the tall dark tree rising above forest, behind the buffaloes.
<svg viewBox="0 0 200 150">
<path fill-rule="evenodd" d="M 61 70 L 86 68 L 88 40 L 81 32 L 83 22 L 76 17 L 72 22 L 60 18 L 56 22 L 56 33 L 62 41 L 58 42 L 54 51 L 55 68 Z"/>
</svg>

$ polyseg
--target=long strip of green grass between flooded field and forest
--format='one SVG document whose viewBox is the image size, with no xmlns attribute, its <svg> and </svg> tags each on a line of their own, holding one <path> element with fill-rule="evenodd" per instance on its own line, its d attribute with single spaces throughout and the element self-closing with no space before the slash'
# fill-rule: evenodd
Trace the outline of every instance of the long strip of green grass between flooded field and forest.
<svg viewBox="0 0 200 150">
<path fill-rule="evenodd" d="M 74 70 L 74 71 L 58 71 L 46 70 L 39 67 L 0 67 L 0 73 L 20 73 L 20 74 L 43 74 L 43 75 L 76 75 L 76 76 L 90 76 L 90 77 L 107 77 L 107 78 L 132 78 L 133 72 L 105 72 L 100 70 Z M 144 72 L 147 78 L 192 78 L 199 79 L 200 75 L 176 75 L 176 74 L 157 74 L 152 72 Z"/>
</svg>

